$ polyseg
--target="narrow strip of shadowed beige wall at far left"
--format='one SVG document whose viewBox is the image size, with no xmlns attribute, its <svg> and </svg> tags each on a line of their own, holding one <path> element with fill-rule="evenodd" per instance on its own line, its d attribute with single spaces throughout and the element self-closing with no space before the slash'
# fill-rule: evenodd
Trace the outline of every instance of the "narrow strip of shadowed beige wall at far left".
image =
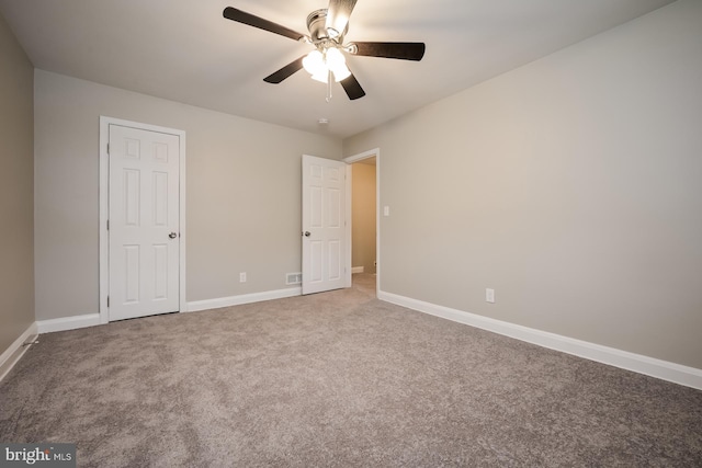
<svg viewBox="0 0 702 468">
<path fill-rule="evenodd" d="M 0 354 L 34 322 L 33 73 L 0 15 Z"/>
</svg>

